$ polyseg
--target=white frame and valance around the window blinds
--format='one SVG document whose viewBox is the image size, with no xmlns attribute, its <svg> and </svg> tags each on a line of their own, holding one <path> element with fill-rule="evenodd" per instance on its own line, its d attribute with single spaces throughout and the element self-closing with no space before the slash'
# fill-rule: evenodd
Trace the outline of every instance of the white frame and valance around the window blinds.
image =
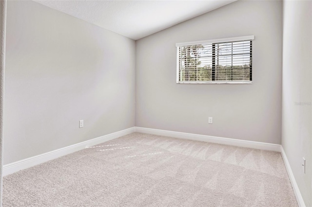
<svg viewBox="0 0 312 207">
<path fill-rule="evenodd" d="M 254 40 L 254 35 L 248 35 L 248 36 L 239 36 L 239 37 L 230 37 L 230 38 L 220 38 L 220 39 L 211 39 L 211 40 L 201 40 L 201 41 L 193 41 L 193 42 L 182 42 L 182 43 L 176 43 L 176 83 L 177 84 L 252 84 L 252 41 Z M 250 53 L 250 80 L 243 81 L 179 81 L 179 62 L 180 62 L 180 52 L 179 48 L 183 46 L 196 46 L 201 44 L 218 44 L 218 43 L 231 43 L 231 42 L 238 42 L 238 41 L 251 41 L 250 47 L 251 47 L 251 53 Z M 233 54 L 232 54 L 233 55 Z M 213 67 L 214 68 L 214 67 Z M 212 68 L 212 70 L 213 70 Z"/>
</svg>

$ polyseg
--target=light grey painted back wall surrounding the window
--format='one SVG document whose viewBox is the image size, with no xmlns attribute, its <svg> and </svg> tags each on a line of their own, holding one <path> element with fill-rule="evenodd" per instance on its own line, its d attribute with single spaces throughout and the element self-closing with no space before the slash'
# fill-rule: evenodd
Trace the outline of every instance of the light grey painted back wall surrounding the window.
<svg viewBox="0 0 312 207">
<path fill-rule="evenodd" d="M 176 84 L 176 43 L 245 35 L 252 85 Z M 281 143 L 282 1 L 235 1 L 137 40 L 136 65 L 137 127 Z"/>
</svg>

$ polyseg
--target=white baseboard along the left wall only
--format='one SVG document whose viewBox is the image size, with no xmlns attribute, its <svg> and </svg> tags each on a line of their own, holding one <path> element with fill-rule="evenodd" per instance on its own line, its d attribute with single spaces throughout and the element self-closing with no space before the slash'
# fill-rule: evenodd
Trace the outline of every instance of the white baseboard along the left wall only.
<svg viewBox="0 0 312 207">
<path fill-rule="evenodd" d="M 98 138 L 94 138 L 94 139 L 83 141 L 77 144 L 73 144 L 68 147 L 63 147 L 61 149 L 54 150 L 48 153 L 44 153 L 41 155 L 29 157 L 29 158 L 26 158 L 17 162 L 13 162 L 7 165 L 3 165 L 2 176 L 12 174 L 12 173 L 18 172 L 26 168 L 30 168 L 32 166 L 41 164 L 43 162 L 46 162 L 46 161 L 49 161 L 49 160 L 52 160 L 52 159 L 55 159 L 64 155 L 68 155 L 70 153 L 77 152 L 79 150 L 83 150 L 86 147 L 91 147 L 91 146 L 100 144 L 102 142 L 112 140 L 114 138 L 118 138 L 118 137 L 122 137 L 128 134 L 134 133 L 135 131 L 136 131 L 135 127 L 128 128 L 128 129 L 121 130 L 112 134 L 104 135 Z"/>
</svg>

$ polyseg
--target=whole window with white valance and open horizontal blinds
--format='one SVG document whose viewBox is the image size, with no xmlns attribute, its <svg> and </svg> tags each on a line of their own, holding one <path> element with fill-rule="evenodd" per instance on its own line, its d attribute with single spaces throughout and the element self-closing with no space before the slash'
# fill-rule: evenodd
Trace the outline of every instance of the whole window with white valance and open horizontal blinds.
<svg viewBox="0 0 312 207">
<path fill-rule="evenodd" d="M 177 43 L 176 83 L 252 83 L 252 40 L 242 36 Z"/>
</svg>

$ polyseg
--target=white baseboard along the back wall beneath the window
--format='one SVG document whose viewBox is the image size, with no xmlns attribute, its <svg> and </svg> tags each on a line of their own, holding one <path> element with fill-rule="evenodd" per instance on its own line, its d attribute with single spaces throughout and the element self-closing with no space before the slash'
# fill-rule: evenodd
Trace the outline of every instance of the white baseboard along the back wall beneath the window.
<svg viewBox="0 0 312 207">
<path fill-rule="evenodd" d="M 232 145 L 237 147 L 248 147 L 253 149 L 259 150 L 269 150 L 280 152 L 281 145 L 279 144 L 270 144 L 265 142 L 257 142 L 257 141 L 247 141 L 242 139 L 234 139 L 234 138 L 221 138 L 221 137 L 213 137 L 207 135 L 197 135 L 197 134 L 189 134 L 183 132 L 173 132 L 173 131 L 166 131 L 166 130 L 159 130 L 159 129 L 149 129 L 149 128 L 142 128 L 136 127 L 136 132 L 152 134 L 152 135 L 160 135 L 166 137 L 173 137 L 173 138 L 184 138 L 196 141 L 206 141 L 212 142 L 217 144 L 226 144 Z"/>
</svg>

